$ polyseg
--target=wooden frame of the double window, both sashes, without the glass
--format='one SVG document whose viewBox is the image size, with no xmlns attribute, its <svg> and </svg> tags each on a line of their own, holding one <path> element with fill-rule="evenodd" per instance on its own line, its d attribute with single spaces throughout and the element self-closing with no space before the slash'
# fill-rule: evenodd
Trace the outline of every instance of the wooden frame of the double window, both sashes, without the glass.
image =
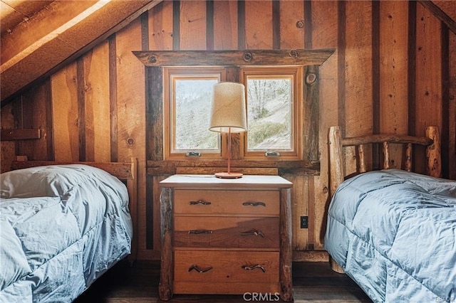
<svg viewBox="0 0 456 303">
<path fill-rule="evenodd" d="M 293 151 L 279 151 L 280 156 L 266 156 L 266 150 L 264 151 L 248 151 L 247 150 L 247 137 L 249 130 L 246 133 L 239 134 L 239 150 L 233 150 L 232 154 L 239 154 L 239 159 L 245 160 L 302 160 L 302 122 L 304 119 L 304 112 L 302 103 L 304 102 L 304 90 L 303 90 L 303 77 L 304 68 L 300 65 L 268 65 L 268 66 L 240 66 L 239 70 L 239 82 L 247 85 L 247 78 L 249 76 L 268 76 L 275 75 L 279 77 L 291 77 L 293 78 L 293 122 L 292 122 L 292 144 L 294 147 Z M 227 78 L 227 67 L 224 66 L 186 66 L 186 67 L 164 67 L 163 68 L 163 97 L 164 97 L 164 129 L 163 129 L 163 151 L 164 159 L 166 160 L 221 160 L 227 156 L 227 138 L 224 138 L 224 134 L 219 134 L 219 151 L 204 151 L 204 150 L 175 150 L 174 147 L 174 129 L 175 129 L 175 99 L 173 93 L 175 91 L 173 78 L 205 78 L 212 77 L 214 75 L 219 76 L 219 81 L 225 81 Z M 247 87 L 247 86 L 246 86 Z M 247 90 L 246 103 L 247 100 Z M 246 109 L 247 110 L 247 109 Z M 248 119 L 248 118 L 247 118 Z M 236 145 L 234 145 L 236 146 Z M 188 151 L 198 151 L 199 156 L 188 156 Z M 271 150 L 272 151 L 272 150 Z"/>
</svg>

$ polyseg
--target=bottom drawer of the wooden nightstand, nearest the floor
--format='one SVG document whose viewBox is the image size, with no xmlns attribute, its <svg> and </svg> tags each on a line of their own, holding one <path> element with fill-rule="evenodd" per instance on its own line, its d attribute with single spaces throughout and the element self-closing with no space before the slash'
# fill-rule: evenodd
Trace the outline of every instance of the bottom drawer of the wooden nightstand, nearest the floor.
<svg viewBox="0 0 456 303">
<path fill-rule="evenodd" d="M 279 282 L 279 252 L 175 250 L 175 282 Z"/>
</svg>

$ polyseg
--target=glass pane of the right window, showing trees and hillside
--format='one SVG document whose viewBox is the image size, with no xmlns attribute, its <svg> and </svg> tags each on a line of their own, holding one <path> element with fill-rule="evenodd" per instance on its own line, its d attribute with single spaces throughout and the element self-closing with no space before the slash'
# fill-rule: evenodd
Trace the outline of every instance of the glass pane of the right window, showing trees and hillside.
<svg viewBox="0 0 456 303">
<path fill-rule="evenodd" d="M 247 151 L 292 151 L 291 77 L 247 77 Z"/>
</svg>

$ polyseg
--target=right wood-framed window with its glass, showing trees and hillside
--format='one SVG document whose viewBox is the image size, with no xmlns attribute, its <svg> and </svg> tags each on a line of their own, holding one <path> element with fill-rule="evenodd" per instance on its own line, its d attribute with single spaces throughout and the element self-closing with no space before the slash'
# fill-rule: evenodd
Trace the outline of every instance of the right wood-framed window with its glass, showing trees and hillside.
<svg viewBox="0 0 456 303">
<path fill-rule="evenodd" d="M 300 67 L 241 68 L 247 90 L 244 157 L 300 159 L 301 73 Z"/>
</svg>

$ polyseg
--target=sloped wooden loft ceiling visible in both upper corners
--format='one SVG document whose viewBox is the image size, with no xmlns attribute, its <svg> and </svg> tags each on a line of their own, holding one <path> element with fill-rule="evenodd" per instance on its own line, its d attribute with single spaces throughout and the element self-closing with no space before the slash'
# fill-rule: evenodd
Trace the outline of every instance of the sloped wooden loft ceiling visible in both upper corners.
<svg viewBox="0 0 456 303">
<path fill-rule="evenodd" d="M 162 0 L 0 0 L 1 103 Z M 418 0 L 456 33 L 454 0 Z"/>
</svg>

